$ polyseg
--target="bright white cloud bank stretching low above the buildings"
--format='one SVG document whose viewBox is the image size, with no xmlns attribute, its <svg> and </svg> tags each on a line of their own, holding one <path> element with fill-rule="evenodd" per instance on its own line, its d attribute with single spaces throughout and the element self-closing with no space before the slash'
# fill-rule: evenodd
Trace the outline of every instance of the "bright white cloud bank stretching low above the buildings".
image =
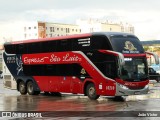
<svg viewBox="0 0 160 120">
<path fill-rule="evenodd" d="M 27 10 L 15 16 L 10 16 L 9 22 L 13 21 L 46 21 L 57 23 L 75 24 L 79 18 L 106 19 L 113 22 L 128 22 L 135 27 L 135 34 L 141 40 L 156 39 L 159 36 L 160 15 L 158 11 L 124 11 L 105 9 L 37 9 Z M 17 22 L 16 22 L 17 23 Z"/>
</svg>

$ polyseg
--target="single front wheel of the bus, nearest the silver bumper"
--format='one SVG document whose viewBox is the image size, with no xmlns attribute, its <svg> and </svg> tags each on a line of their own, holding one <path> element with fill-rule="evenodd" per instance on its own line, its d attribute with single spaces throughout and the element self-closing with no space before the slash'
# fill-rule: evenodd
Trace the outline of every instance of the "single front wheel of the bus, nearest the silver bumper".
<svg viewBox="0 0 160 120">
<path fill-rule="evenodd" d="M 96 89 L 93 83 L 87 85 L 86 93 L 91 100 L 96 100 L 99 98 L 99 95 L 96 94 Z"/>
</svg>

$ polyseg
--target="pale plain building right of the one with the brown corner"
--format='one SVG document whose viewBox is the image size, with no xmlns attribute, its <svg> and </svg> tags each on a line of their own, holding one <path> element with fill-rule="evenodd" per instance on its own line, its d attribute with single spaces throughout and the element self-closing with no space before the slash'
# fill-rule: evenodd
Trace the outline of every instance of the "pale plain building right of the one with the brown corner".
<svg viewBox="0 0 160 120">
<path fill-rule="evenodd" d="M 76 21 L 79 25 L 82 33 L 88 32 L 126 32 L 134 34 L 134 27 L 130 24 L 122 23 L 112 23 L 102 20 L 82 20 L 79 19 Z"/>
</svg>

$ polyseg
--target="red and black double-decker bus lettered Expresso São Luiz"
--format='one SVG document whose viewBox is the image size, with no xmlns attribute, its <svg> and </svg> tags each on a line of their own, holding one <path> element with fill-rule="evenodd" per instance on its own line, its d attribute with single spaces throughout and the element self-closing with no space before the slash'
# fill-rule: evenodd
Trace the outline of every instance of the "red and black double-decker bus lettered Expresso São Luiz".
<svg viewBox="0 0 160 120">
<path fill-rule="evenodd" d="M 97 99 L 149 90 L 147 53 L 132 34 L 96 32 L 7 42 L 4 48 L 21 94 L 65 92 Z"/>
</svg>

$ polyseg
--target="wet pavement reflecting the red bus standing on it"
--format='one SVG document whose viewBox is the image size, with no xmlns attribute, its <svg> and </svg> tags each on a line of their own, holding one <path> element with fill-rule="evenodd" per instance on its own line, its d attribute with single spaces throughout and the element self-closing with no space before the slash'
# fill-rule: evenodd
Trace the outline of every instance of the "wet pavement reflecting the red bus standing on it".
<svg viewBox="0 0 160 120">
<path fill-rule="evenodd" d="M 62 97 L 45 95 L 43 93 L 38 96 L 20 95 L 16 90 L 4 88 L 3 81 L 0 81 L 0 111 L 86 111 L 91 112 L 87 113 L 89 116 L 92 112 L 97 116 L 105 116 L 107 115 L 107 111 L 132 111 L 130 112 L 131 115 L 133 115 L 133 111 L 158 111 L 158 115 L 160 115 L 159 103 L 160 83 L 156 82 L 150 83 L 150 92 L 147 95 L 133 95 L 124 99 L 113 99 L 102 96 L 96 101 L 91 101 L 88 97 L 72 94 L 62 94 Z M 98 111 L 102 111 L 103 114 Z M 66 115 L 65 113 L 63 114 Z M 53 114 L 49 115 L 52 116 Z M 71 113 L 69 113 L 69 116 L 70 115 Z M 86 114 L 84 116 L 84 119 L 86 119 Z M 65 116 L 62 115 L 62 118 L 64 117 Z M 73 117 L 70 119 L 72 118 Z M 87 118 L 90 119 L 90 117 Z M 128 117 L 125 117 L 124 119 L 127 118 Z M 105 117 L 102 119 L 105 119 Z M 114 119 L 120 118 L 116 117 Z M 144 119 L 144 117 L 140 119 Z M 155 119 L 158 119 L 158 117 Z"/>
</svg>

